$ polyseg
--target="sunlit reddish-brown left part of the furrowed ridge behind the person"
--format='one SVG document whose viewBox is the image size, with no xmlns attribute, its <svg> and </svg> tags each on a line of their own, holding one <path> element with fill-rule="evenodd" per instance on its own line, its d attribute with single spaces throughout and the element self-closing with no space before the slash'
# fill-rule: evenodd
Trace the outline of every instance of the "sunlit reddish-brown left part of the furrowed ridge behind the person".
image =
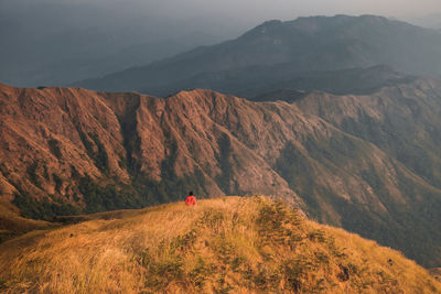
<svg viewBox="0 0 441 294">
<path fill-rule="evenodd" d="M 2 86 L 1 101 L 1 157 L 8 159 L 1 164 L 2 194 L 21 195 L 18 206 L 35 198 L 63 203 L 69 209 L 60 211 L 66 214 L 76 204 L 86 211 L 106 210 L 180 199 L 191 188 L 204 196 L 297 197 L 260 154 L 228 130 L 234 126 L 252 134 L 255 120 L 265 112 L 268 121 L 276 116 L 245 99 L 205 90 L 159 99 Z M 279 126 L 265 128 L 268 137 Z M 270 143 L 259 144 L 267 149 Z M 41 217 L 52 208 L 28 213 Z"/>
</svg>

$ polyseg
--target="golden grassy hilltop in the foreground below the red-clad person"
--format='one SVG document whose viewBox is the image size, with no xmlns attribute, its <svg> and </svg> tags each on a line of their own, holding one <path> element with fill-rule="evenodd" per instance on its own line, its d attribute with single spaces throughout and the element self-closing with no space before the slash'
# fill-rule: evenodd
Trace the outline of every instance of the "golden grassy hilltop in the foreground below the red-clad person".
<svg viewBox="0 0 441 294">
<path fill-rule="evenodd" d="M 399 252 L 225 197 L 123 211 L 0 244 L 3 293 L 440 293 Z"/>
</svg>

